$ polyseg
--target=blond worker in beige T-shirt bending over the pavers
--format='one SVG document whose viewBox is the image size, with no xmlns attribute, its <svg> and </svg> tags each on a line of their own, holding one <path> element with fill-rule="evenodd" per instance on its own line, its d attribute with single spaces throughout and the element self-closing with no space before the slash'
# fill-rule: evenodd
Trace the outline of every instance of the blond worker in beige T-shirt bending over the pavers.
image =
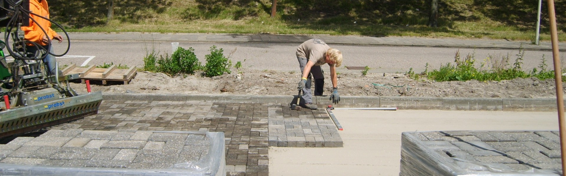
<svg viewBox="0 0 566 176">
<path fill-rule="evenodd" d="M 324 74 L 320 65 L 328 64 L 330 66 L 330 78 L 332 81 L 332 95 L 330 99 L 332 103 L 340 102 L 338 95 L 338 79 L 336 76 L 336 67 L 342 65 L 342 52 L 332 49 L 321 39 L 309 39 L 303 42 L 297 48 L 297 60 L 301 66 L 302 78 L 297 89 L 303 90 L 302 98 L 305 104 L 302 107 L 308 109 L 318 108 L 316 104 L 312 104 L 311 92 L 311 73 L 315 79 L 315 95 L 322 95 L 324 87 Z"/>
</svg>

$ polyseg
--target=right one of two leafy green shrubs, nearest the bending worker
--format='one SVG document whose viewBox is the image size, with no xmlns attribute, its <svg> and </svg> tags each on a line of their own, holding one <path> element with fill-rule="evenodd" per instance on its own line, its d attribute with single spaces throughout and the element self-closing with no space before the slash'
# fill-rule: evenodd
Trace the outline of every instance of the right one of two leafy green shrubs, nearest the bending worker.
<svg viewBox="0 0 566 176">
<path fill-rule="evenodd" d="M 207 59 L 207 63 L 204 66 L 204 76 L 206 77 L 214 77 L 220 76 L 224 73 L 230 73 L 230 67 L 232 67 L 232 61 L 228 60 L 222 54 L 222 49 L 216 49 L 216 46 L 212 46 L 211 54 L 205 55 L 204 57 Z"/>
</svg>

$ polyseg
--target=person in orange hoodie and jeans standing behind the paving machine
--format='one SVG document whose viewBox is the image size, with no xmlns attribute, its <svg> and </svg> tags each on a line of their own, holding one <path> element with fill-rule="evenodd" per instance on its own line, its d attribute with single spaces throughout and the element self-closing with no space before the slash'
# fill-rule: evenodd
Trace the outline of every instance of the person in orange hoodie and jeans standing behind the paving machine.
<svg viewBox="0 0 566 176">
<path fill-rule="evenodd" d="M 29 0 L 29 11 L 33 14 L 49 19 L 49 6 L 46 0 Z M 63 41 L 63 37 L 57 34 L 55 30 L 51 29 L 51 22 L 49 20 L 33 14 L 29 14 L 29 16 L 31 16 L 35 22 L 32 19 L 29 19 L 29 27 L 22 27 L 22 30 L 25 32 L 25 40 L 36 42 L 38 45 L 43 46 L 45 49 L 49 49 L 49 52 L 53 53 L 53 45 L 51 44 L 52 40 L 55 39 L 61 43 Z M 43 28 L 43 30 L 41 30 L 40 27 Z M 36 51 L 37 48 L 31 43 L 28 43 L 27 52 L 35 53 Z M 43 61 L 48 65 L 49 72 L 55 74 L 55 63 L 57 62 L 55 56 L 50 55 L 48 52 L 41 52 L 41 54 L 47 55 Z M 40 65 L 35 64 L 34 66 L 35 68 L 32 66 L 32 69 L 35 69 L 35 72 L 39 71 Z"/>
</svg>

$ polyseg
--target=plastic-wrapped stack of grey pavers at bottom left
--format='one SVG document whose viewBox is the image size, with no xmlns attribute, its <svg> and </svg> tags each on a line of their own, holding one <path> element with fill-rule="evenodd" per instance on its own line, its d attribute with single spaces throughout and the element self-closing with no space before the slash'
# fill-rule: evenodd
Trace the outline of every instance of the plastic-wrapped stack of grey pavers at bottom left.
<svg viewBox="0 0 566 176">
<path fill-rule="evenodd" d="M 0 175 L 226 175 L 224 133 L 49 130 L 0 144 Z"/>
</svg>

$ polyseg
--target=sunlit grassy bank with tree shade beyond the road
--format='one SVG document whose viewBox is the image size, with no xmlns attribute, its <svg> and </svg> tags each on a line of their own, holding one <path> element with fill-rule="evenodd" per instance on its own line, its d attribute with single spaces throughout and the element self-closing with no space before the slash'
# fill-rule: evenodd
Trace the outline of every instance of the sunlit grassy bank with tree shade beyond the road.
<svg viewBox="0 0 566 176">
<path fill-rule="evenodd" d="M 424 0 L 282 0 L 278 1 L 273 18 L 271 0 L 117 1 L 115 17 L 109 21 L 106 2 L 53 1 L 51 16 L 68 32 L 330 34 L 534 41 L 537 11 L 534 2 L 445 0 L 440 2 L 439 27 L 431 28 L 426 25 L 429 7 Z M 564 41 L 566 0 L 556 0 L 555 5 L 558 29 L 562 29 L 559 40 Z M 541 40 L 549 41 L 546 12 L 542 16 Z"/>
</svg>

